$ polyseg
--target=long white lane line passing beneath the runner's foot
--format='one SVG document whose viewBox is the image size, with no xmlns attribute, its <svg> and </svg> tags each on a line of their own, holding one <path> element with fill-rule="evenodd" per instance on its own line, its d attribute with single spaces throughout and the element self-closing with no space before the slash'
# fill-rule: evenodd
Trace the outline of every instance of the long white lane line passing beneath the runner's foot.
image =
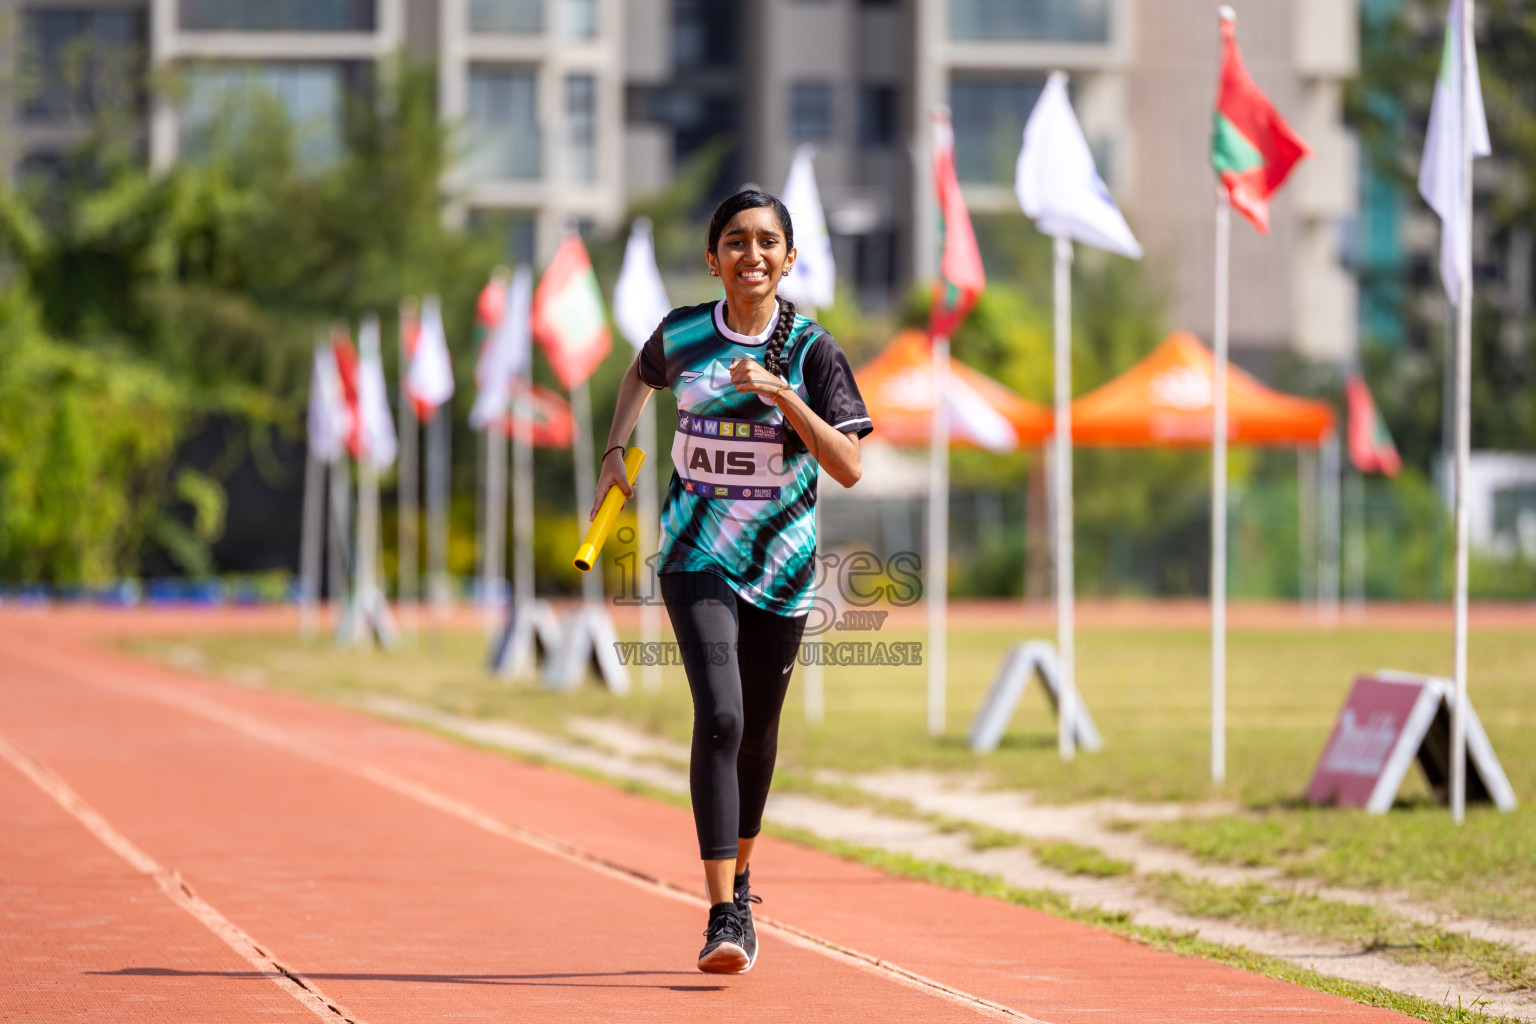
<svg viewBox="0 0 1536 1024">
<path fill-rule="evenodd" d="M 12 649 L 12 656 L 20 656 L 26 660 L 32 660 L 34 663 L 46 663 L 49 669 L 63 671 L 81 682 L 88 682 L 97 686 L 109 686 L 118 692 L 129 694 L 138 699 L 147 697 L 160 703 L 169 705 L 172 708 L 177 708 L 180 711 L 200 715 L 210 722 L 217 722 L 226 728 L 235 729 L 237 732 L 243 732 L 255 740 L 270 743 L 272 746 L 281 748 L 292 754 L 298 754 L 300 757 L 306 757 L 312 761 L 327 765 L 338 771 L 344 771 L 350 775 L 356 775 L 358 778 L 372 781 L 376 786 L 382 786 L 384 789 L 389 789 L 395 794 L 399 794 L 421 804 L 425 804 L 429 808 L 456 817 L 461 821 L 467 821 L 493 835 L 499 835 L 522 843 L 525 846 L 531 846 L 533 849 L 542 851 L 553 857 L 559 857 L 562 860 L 573 861 L 576 864 L 596 870 L 598 874 L 608 875 L 610 878 L 616 878 L 619 881 L 625 881 L 647 892 L 653 892 L 656 895 L 662 895 L 670 900 L 677 900 L 680 903 L 687 903 L 696 907 L 707 906 L 702 897 L 696 895 L 688 889 L 676 886 L 667 881 L 665 878 L 657 878 L 636 867 L 630 867 L 619 861 L 608 860 L 607 857 L 601 857 L 598 854 L 593 854 L 590 851 L 576 846 L 574 843 L 568 843 L 553 835 L 545 835 L 542 832 L 524 827 L 521 824 L 510 824 L 507 821 L 502 821 L 501 818 L 490 815 L 485 811 L 481 811 L 479 808 L 476 808 L 468 801 L 459 800 L 458 797 L 450 797 L 412 778 L 406 778 L 404 775 L 396 775 L 395 772 L 386 768 L 379 768 L 378 765 L 373 765 L 370 761 L 364 761 L 350 757 L 347 754 L 332 751 L 326 746 L 293 735 L 292 732 L 286 732 L 276 726 L 272 726 L 243 711 L 237 711 L 217 700 L 201 697 L 198 694 L 189 694 L 177 686 L 167 686 L 164 683 L 154 683 L 154 682 L 123 683 L 109 677 L 106 672 L 88 674 L 68 662 L 60 663 L 60 660 L 55 660 L 54 657 L 49 656 L 40 657 L 34 651 L 20 652 Z M 828 960 L 874 973 L 880 978 L 885 978 L 886 981 L 895 981 L 911 989 L 917 989 L 928 995 L 945 999 L 946 1003 L 963 1006 L 969 1010 L 977 1012 L 985 1018 L 997 1021 L 1028 1021 L 1029 1024 L 1046 1024 L 1044 1021 L 1029 1016 L 1028 1013 L 1021 1013 L 1014 1007 L 1003 1006 L 1001 1003 L 994 1003 L 971 992 L 965 992 L 963 989 L 955 989 L 954 986 L 948 986 L 934 978 L 920 975 L 915 970 L 908 970 L 906 967 L 892 964 L 891 961 L 883 960 L 880 956 L 874 956 L 871 953 L 865 953 L 857 949 L 842 946 L 840 943 L 822 938 L 813 932 L 806 932 L 793 924 L 785 924 L 782 921 L 776 921 L 766 917 L 757 918 L 757 921 L 760 924 L 760 930 L 771 933 L 777 936 L 780 941 L 785 941 L 791 946 L 796 946 L 799 949 L 806 949 L 814 953 L 820 953 Z"/>
</svg>

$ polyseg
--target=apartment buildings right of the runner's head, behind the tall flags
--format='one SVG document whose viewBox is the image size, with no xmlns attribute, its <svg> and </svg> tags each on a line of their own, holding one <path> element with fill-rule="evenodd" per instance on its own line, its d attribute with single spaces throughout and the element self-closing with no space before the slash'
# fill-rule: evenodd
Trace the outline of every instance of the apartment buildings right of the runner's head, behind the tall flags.
<svg viewBox="0 0 1536 1024">
<path fill-rule="evenodd" d="M 1356 69 L 1356 2 L 1233 6 L 1250 72 L 1316 155 L 1279 195 L 1267 236 L 1233 233 L 1232 342 L 1258 361 L 1287 350 L 1349 361 L 1358 301 L 1342 239 L 1358 155 L 1341 97 Z M 1046 75 L 1066 71 L 1170 322 L 1209 338 L 1220 46 L 1207 0 L 631 0 L 630 12 L 631 189 L 667 181 L 711 132 L 736 140 L 730 184 L 777 187 L 794 149 L 816 144 L 840 273 L 877 306 L 937 263 L 931 112 L 951 112 L 971 209 L 1017 215 L 1025 120 Z"/>
</svg>

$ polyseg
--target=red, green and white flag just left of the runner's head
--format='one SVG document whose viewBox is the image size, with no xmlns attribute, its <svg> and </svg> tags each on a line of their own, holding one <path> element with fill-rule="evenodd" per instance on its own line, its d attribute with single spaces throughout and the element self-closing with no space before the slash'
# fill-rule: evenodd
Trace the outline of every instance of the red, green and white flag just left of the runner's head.
<svg viewBox="0 0 1536 1024">
<path fill-rule="evenodd" d="M 567 391 L 613 350 L 598 275 L 576 232 L 567 232 L 533 293 L 533 338 Z"/>
</svg>

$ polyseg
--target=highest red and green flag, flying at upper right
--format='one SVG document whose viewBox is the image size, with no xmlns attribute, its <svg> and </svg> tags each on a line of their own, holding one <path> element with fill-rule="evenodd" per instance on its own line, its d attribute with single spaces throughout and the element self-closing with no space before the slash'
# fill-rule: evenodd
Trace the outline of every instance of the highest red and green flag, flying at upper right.
<svg viewBox="0 0 1536 1024">
<path fill-rule="evenodd" d="M 1243 66 L 1235 18 L 1221 18 L 1221 88 L 1210 132 L 1210 166 L 1232 206 L 1269 233 L 1269 197 L 1312 147 L 1296 135 Z"/>
</svg>

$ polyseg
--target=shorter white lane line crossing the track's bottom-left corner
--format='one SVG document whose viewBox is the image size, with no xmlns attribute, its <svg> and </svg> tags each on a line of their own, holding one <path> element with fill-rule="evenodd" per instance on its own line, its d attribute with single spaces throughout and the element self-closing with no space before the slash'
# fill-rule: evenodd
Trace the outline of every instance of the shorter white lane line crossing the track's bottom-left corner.
<svg viewBox="0 0 1536 1024">
<path fill-rule="evenodd" d="M 261 949 L 257 940 L 250 938 L 240 926 L 220 913 L 207 900 L 192 892 L 181 880 L 181 875 L 166 869 L 160 861 L 138 849 L 131 838 L 112 827 L 101 814 L 80 798 L 63 778 L 55 775 L 46 765 L 18 748 L 8 735 L 0 732 L 0 757 L 8 760 L 22 775 L 29 778 L 38 789 L 54 798 L 71 817 L 84 829 L 101 840 L 114 854 L 126 860 L 135 870 L 155 880 L 160 890 L 178 907 L 198 920 L 209 932 L 217 935 L 232 950 L 240 953 L 252 967 L 261 972 L 283 992 L 289 993 L 310 1013 L 335 1024 L 358 1024 L 356 1019 L 341 1009 L 335 999 L 315 987 L 313 983 L 300 978 L 284 967 L 272 953 Z"/>
</svg>

